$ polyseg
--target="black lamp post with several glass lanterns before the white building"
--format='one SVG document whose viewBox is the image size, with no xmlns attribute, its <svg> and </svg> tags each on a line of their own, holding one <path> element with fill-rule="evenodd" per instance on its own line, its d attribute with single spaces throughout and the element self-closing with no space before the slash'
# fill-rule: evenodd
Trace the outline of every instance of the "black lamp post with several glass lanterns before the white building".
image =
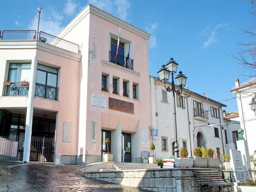
<svg viewBox="0 0 256 192">
<path fill-rule="evenodd" d="M 177 120 L 176 120 L 176 102 L 175 102 L 175 93 L 180 95 L 182 93 L 182 88 L 186 85 L 187 77 L 182 74 L 180 71 L 179 74 L 175 77 L 177 86 L 179 86 L 180 90 L 175 89 L 174 84 L 174 74 L 177 72 L 178 63 L 170 58 L 170 61 L 166 65 L 162 65 L 162 68 L 159 69 L 158 75 L 161 81 L 164 81 L 164 88 L 167 92 L 173 93 L 173 122 L 174 122 L 174 135 L 175 135 L 175 143 L 174 143 L 174 156 L 175 158 L 179 157 L 179 148 L 178 148 L 178 134 L 177 134 Z M 172 75 L 172 87 L 166 86 L 166 81 L 168 81 L 170 74 Z"/>
</svg>

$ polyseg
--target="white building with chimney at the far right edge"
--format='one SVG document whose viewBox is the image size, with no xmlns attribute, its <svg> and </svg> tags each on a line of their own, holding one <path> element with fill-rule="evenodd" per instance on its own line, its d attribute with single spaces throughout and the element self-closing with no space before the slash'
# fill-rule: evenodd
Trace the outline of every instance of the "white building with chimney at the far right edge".
<svg viewBox="0 0 256 192">
<path fill-rule="evenodd" d="M 256 116 L 249 104 L 252 101 L 252 98 L 255 97 L 256 81 L 240 85 L 239 79 L 236 79 L 236 88 L 232 89 L 231 92 L 236 94 L 239 122 L 241 124 L 241 129 L 244 130 L 244 140 L 248 142 L 249 154 L 252 155 L 253 151 L 256 149 Z"/>
</svg>

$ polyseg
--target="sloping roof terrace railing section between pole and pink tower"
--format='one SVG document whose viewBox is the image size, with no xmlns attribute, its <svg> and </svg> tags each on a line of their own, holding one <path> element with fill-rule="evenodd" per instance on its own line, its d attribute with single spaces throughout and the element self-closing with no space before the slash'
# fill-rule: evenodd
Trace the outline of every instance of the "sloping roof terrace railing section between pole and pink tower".
<svg viewBox="0 0 256 192">
<path fill-rule="evenodd" d="M 61 49 L 66 49 L 67 51 L 76 52 L 77 54 L 80 53 L 79 45 L 64 40 L 63 38 L 59 38 L 58 36 L 53 36 L 48 33 L 40 31 L 39 40 L 41 42 L 45 42 L 45 44 L 60 47 Z"/>
</svg>

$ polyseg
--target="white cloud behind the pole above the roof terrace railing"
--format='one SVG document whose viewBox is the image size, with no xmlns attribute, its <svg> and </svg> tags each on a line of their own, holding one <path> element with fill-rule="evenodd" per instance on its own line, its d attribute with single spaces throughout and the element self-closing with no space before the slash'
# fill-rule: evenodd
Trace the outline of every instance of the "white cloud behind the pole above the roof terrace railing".
<svg viewBox="0 0 256 192">
<path fill-rule="evenodd" d="M 58 35 L 60 31 L 64 28 L 61 21 L 63 16 L 56 12 L 53 8 L 49 8 L 49 12 L 43 10 L 40 15 L 40 28 L 39 31 L 44 31 L 51 35 Z M 28 29 L 36 30 L 38 27 L 38 14 L 29 23 Z"/>
</svg>

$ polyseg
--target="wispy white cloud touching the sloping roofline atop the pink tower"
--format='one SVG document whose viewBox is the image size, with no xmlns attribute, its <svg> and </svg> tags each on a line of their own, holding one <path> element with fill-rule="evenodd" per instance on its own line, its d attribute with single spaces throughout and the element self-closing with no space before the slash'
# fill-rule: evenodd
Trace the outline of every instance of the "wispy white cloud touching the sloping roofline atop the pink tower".
<svg viewBox="0 0 256 192">
<path fill-rule="evenodd" d="M 127 15 L 131 8 L 131 3 L 128 0 L 88 0 L 88 3 L 122 20 L 127 20 Z"/>
</svg>

